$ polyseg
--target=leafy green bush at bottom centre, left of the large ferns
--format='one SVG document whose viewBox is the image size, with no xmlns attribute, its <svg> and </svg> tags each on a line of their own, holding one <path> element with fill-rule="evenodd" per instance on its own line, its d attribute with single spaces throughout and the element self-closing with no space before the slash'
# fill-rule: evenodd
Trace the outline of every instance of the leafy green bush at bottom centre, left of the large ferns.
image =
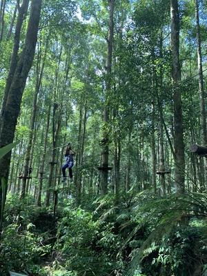
<svg viewBox="0 0 207 276">
<path fill-rule="evenodd" d="M 101 276 L 121 268 L 121 259 L 117 258 L 120 238 L 113 224 L 99 224 L 86 210 L 68 206 L 59 225 L 56 247 L 66 255 L 68 270 L 77 275 Z"/>
</svg>

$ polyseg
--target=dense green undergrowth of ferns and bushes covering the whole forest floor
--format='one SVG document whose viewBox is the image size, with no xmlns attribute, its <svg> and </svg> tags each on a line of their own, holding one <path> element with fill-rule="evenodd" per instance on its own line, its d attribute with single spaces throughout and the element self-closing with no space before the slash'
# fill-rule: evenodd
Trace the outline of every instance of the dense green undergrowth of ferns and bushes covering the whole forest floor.
<svg viewBox="0 0 207 276">
<path fill-rule="evenodd" d="M 37 207 L 8 195 L 0 272 L 33 276 L 201 276 L 207 273 L 204 193 L 155 197 L 132 190 Z"/>
</svg>

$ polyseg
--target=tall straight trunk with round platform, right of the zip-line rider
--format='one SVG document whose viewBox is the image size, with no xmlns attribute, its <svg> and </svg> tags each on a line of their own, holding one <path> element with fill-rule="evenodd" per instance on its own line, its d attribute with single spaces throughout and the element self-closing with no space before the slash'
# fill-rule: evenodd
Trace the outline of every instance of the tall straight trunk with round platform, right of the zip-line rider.
<svg viewBox="0 0 207 276">
<path fill-rule="evenodd" d="M 112 41 L 114 37 L 114 6 L 115 0 L 109 0 L 109 32 L 108 53 L 106 64 L 106 100 L 103 110 L 103 148 L 101 151 L 101 195 L 106 195 L 108 188 L 108 123 L 109 123 L 109 92 L 111 88 L 110 74 L 112 70 Z"/>
</svg>

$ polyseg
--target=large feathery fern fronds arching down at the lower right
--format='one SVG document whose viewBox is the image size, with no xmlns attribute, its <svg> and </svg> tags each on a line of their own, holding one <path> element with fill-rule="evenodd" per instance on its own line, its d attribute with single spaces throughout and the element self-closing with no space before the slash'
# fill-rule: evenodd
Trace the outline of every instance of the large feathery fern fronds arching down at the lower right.
<svg viewBox="0 0 207 276">
<path fill-rule="evenodd" d="M 156 250 L 156 246 L 159 246 L 161 239 L 165 235 L 168 235 L 175 226 L 179 225 L 184 217 L 195 216 L 195 212 L 206 217 L 206 202 L 203 200 L 204 197 L 205 195 L 201 195 L 200 197 L 199 195 L 150 197 L 148 201 L 139 201 L 132 207 L 134 213 L 130 219 L 130 223 L 132 225 L 137 221 L 137 225 L 129 233 L 124 246 L 129 244 L 133 238 L 136 239 L 136 235 L 139 234 L 141 228 L 149 229 L 151 227 L 152 232 L 146 237 L 143 244 L 130 254 L 132 261 L 128 275 L 134 275 L 133 271 L 137 269 L 142 260 L 148 257 L 152 250 Z"/>
</svg>

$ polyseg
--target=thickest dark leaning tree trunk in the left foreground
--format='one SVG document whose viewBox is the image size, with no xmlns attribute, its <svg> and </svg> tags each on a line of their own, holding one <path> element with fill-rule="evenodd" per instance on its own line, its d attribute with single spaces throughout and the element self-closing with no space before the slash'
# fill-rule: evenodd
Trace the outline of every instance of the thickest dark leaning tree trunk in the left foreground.
<svg viewBox="0 0 207 276">
<path fill-rule="evenodd" d="M 37 43 L 37 32 L 39 26 L 39 18 L 41 11 L 41 0 L 32 0 L 30 19 L 28 22 L 28 30 L 26 34 L 26 41 L 21 52 L 21 57 L 17 63 L 17 68 L 12 78 L 12 83 L 8 92 L 6 105 L 3 112 L 0 113 L 0 147 L 12 143 L 14 139 L 14 132 L 17 125 L 17 118 L 21 106 L 21 98 L 23 90 L 26 86 L 26 79 L 28 72 L 32 66 L 34 59 L 34 51 Z M 0 181 L 5 177 L 8 181 L 8 173 L 10 168 L 11 152 L 0 159 Z M 0 213 L 2 200 L 2 186 L 0 186 Z"/>
</svg>

